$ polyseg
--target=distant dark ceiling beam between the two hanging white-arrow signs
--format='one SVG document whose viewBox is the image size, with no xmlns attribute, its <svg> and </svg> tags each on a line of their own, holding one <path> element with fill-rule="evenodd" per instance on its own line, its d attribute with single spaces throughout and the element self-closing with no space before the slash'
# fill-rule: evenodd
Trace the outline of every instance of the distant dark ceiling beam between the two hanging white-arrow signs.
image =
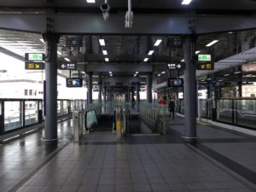
<svg viewBox="0 0 256 192">
<path fill-rule="evenodd" d="M 153 72 L 153 67 L 149 64 L 125 64 L 120 65 L 119 63 L 104 63 L 104 64 L 88 64 L 86 67 L 86 72 L 96 72 L 96 73 L 108 73 L 108 72 L 140 72 L 149 73 Z"/>
</svg>

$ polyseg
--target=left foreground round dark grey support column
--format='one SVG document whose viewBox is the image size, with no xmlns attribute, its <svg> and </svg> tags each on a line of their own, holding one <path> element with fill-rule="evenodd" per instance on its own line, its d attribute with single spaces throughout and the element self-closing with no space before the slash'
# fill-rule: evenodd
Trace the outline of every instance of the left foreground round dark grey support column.
<svg viewBox="0 0 256 192">
<path fill-rule="evenodd" d="M 59 35 L 54 32 L 44 33 L 46 46 L 45 59 L 45 86 L 46 93 L 45 108 L 45 129 L 44 140 L 49 143 L 56 143 L 57 132 L 57 44 Z"/>
</svg>

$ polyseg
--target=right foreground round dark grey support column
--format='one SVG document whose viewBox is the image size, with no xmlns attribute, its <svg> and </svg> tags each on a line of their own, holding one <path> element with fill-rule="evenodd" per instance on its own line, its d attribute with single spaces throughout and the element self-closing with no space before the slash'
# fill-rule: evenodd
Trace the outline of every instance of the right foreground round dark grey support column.
<svg viewBox="0 0 256 192">
<path fill-rule="evenodd" d="M 192 63 L 191 53 L 195 53 L 192 48 L 191 36 L 186 36 L 184 39 L 183 52 L 185 59 L 184 71 L 184 108 L 185 108 L 185 130 L 183 141 L 194 143 L 196 137 L 196 79 L 195 79 L 195 63 Z"/>
</svg>

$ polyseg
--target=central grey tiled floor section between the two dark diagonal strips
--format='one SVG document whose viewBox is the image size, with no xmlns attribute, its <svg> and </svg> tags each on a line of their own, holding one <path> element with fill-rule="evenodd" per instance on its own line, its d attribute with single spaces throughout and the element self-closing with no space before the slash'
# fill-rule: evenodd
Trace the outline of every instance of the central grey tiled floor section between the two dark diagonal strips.
<svg viewBox="0 0 256 192">
<path fill-rule="evenodd" d="M 247 192 L 184 144 L 69 144 L 19 191 Z"/>
</svg>

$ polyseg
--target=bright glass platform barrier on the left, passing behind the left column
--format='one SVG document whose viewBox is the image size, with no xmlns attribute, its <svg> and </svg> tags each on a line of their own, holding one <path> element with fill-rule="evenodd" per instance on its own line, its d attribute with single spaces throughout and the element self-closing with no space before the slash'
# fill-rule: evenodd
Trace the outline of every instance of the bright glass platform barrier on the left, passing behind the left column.
<svg viewBox="0 0 256 192">
<path fill-rule="evenodd" d="M 70 100 L 57 101 L 58 117 L 71 113 Z M 44 102 L 40 99 L 0 99 L 0 135 L 44 121 Z"/>
</svg>

